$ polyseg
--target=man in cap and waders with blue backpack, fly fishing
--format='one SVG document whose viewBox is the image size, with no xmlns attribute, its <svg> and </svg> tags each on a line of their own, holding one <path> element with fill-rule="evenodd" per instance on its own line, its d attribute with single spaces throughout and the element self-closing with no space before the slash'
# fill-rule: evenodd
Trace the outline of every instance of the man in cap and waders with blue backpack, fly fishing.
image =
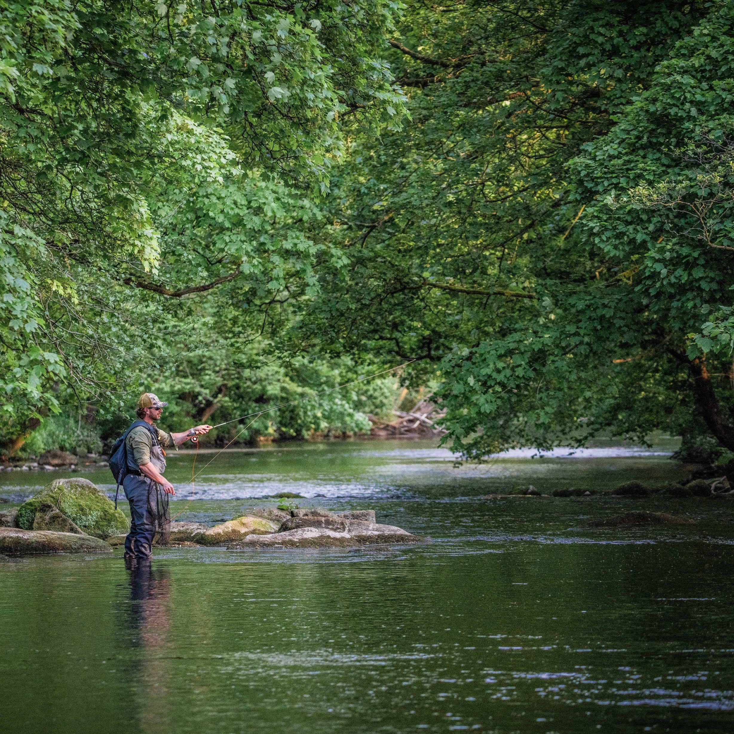
<svg viewBox="0 0 734 734">
<path fill-rule="evenodd" d="M 125 558 L 150 558 L 150 545 L 156 531 L 167 534 L 170 526 L 168 495 L 175 495 L 173 485 L 163 476 L 166 469 L 164 446 L 181 443 L 208 433 L 212 426 L 203 424 L 183 433 L 161 431 L 155 421 L 168 403 L 153 393 L 142 393 L 137 417 L 112 448 L 109 466 L 123 485 L 130 503 L 130 532 L 125 539 Z M 117 501 L 117 500 L 115 500 Z"/>
</svg>

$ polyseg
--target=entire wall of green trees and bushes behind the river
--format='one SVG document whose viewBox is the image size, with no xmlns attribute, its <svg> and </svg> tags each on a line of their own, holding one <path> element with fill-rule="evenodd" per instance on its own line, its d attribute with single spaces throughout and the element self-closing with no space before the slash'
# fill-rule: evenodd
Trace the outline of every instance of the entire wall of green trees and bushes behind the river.
<svg viewBox="0 0 734 734">
<path fill-rule="evenodd" d="M 142 388 L 178 429 L 415 360 L 239 440 L 431 395 L 467 459 L 659 430 L 732 466 L 732 3 L 0 23 L 5 455 L 101 451 Z"/>
</svg>

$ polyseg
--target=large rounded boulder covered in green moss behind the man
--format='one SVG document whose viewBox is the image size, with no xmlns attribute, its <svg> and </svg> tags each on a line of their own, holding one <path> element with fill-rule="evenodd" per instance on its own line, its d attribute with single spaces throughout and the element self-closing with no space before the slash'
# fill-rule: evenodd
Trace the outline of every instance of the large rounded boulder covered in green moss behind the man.
<svg viewBox="0 0 734 734">
<path fill-rule="evenodd" d="M 106 539 L 126 533 L 128 520 L 115 509 L 115 504 L 88 479 L 54 479 L 37 495 L 18 508 L 18 527 L 32 530 L 35 517 L 42 506 L 54 506 L 82 532 Z"/>
</svg>

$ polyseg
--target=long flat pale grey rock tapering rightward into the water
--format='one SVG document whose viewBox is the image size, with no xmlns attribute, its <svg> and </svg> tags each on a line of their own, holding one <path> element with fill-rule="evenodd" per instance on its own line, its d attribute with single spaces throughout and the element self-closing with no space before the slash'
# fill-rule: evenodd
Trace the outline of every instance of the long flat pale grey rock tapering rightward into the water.
<svg viewBox="0 0 734 734">
<path fill-rule="evenodd" d="M 239 542 L 231 543 L 228 548 L 233 551 L 246 548 L 274 548 L 275 546 L 282 548 L 354 548 L 359 545 L 409 543 L 421 540 L 418 536 L 402 528 L 366 523 L 362 520 L 294 517 L 292 521 L 300 523 L 321 522 L 324 523 L 324 526 L 315 527 L 310 524 L 302 524 L 300 527 L 279 531 L 273 535 L 248 535 Z M 331 524 L 332 527 L 327 527 L 326 524 Z M 344 530 L 333 529 L 336 527 L 344 527 Z"/>
</svg>

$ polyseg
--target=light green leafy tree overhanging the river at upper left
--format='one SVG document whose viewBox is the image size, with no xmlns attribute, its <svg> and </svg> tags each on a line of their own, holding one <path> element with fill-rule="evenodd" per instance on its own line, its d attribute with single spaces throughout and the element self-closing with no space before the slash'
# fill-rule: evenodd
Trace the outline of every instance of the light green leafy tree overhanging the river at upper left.
<svg viewBox="0 0 734 734">
<path fill-rule="evenodd" d="M 308 269 L 305 239 L 271 230 L 304 208 L 294 185 L 327 186 L 342 116 L 379 124 L 399 110 L 374 58 L 391 12 L 381 0 L 0 3 L 6 446 L 58 410 L 59 391 L 119 388 L 162 299 Z M 252 211 L 228 211 L 214 183 Z M 195 220 L 196 244 L 183 234 Z"/>
</svg>

